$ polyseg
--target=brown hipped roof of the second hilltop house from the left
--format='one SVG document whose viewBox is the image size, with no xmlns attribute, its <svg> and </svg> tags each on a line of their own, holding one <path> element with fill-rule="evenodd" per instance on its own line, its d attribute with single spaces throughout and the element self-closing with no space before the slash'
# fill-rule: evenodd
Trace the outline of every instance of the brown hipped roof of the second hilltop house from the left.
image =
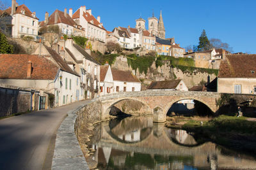
<svg viewBox="0 0 256 170">
<path fill-rule="evenodd" d="M 58 20 L 57 23 L 55 23 L 55 13 L 57 13 L 58 16 Z M 67 13 L 67 17 L 65 17 L 64 12 L 60 11 L 60 10 L 55 10 L 52 15 L 49 17 L 49 22 L 47 24 L 45 24 L 44 21 L 40 22 L 39 26 L 45 26 L 45 25 L 53 25 L 53 24 L 67 24 L 70 25 L 72 27 L 74 27 L 74 25 L 77 25 L 76 22 L 74 22 L 74 20 L 72 20 L 72 18 L 68 15 Z"/>
</svg>

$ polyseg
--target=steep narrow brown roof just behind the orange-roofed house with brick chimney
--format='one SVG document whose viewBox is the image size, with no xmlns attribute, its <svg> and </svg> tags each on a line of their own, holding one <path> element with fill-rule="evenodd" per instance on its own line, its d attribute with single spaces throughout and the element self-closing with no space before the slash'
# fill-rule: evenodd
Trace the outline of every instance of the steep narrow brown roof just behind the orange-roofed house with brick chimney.
<svg viewBox="0 0 256 170">
<path fill-rule="evenodd" d="M 53 50 L 51 47 L 48 47 L 46 45 L 44 46 L 46 50 L 51 54 L 52 59 L 54 59 L 56 64 L 58 64 L 60 69 L 62 69 L 63 71 L 67 71 L 68 73 L 75 74 L 76 76 L 79 76 L 79 74 L 76 73 L 76 71 L 73 71 L 65 62 L 65 60 L 63 60 L 62 57 L 55 50 Z"/>
</svg>

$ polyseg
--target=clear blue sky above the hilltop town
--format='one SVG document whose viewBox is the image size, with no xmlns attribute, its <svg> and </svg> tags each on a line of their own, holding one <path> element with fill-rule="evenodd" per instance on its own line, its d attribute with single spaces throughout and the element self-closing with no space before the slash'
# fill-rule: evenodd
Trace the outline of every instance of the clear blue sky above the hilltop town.
<svg viewBox="0 0 256 170">
<path fill-rule="evenodd" d="M 1 1 L 1 0 L 0 0 Z M 4 0 L 2 0 L 4 1 Z M 11 4 L 11 0 L 5 0 Z M 45 11 L 80 7 L 92 9 L 92 14 L 108 31 L 115 27 L 135 27 L 136 19 L 144 18 L 148 27 L 148 17 L 159 18 L 162 10 L 166 38 L 175 38 L 175 43 L 185 48 L 198 45 L 198 38 L 205 29 L 208 39 L 218 38 L 228 43 L 234 52 L 256 53 L 256 0 L 110 0 L 110 1 L 66 1 L 66 0 L 17 0 L 36 12 L 40 21 Z"/>
</svg>

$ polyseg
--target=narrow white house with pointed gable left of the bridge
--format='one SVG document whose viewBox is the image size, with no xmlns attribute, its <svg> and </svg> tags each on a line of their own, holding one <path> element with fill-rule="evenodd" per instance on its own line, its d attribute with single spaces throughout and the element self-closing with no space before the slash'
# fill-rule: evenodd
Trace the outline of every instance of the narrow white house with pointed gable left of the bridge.
<svg viewBox="0 0 256 170">
<path fill-rule="evenodd" d="M 100 66 L 100 95 L 114 92 L 114 82 L 111 67 Z"/>
</svg>

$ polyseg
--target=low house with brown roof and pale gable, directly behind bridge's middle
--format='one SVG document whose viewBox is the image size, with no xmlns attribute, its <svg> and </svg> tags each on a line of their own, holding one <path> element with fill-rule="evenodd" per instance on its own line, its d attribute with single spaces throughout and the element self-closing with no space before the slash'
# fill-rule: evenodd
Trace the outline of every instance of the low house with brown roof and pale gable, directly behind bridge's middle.
<svg viewBox="0 0 256 170">
<path fill-rule="evenodd" d="M 152 81 L 147 90 L 180 90 L 188 91 L 183 80 Z"/>
</svg>

